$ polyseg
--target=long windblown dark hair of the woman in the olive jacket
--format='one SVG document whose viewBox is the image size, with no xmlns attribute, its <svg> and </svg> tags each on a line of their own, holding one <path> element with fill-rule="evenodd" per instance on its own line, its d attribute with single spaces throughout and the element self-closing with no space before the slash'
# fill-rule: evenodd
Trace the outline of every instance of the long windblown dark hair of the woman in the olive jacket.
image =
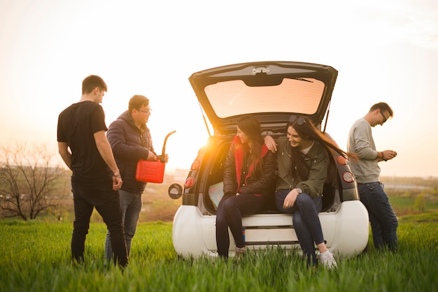
<svg viewBox="0 0 438 292">
<path fill-rule="evenodd" d="M 337 180 L 337 168 L 336 162 L 334 161 L 332 152 L 337 152 L 339 155 L 343 156 L 345 159 L 351 158 L 356 159 L 357 155 L 354 153 L 345 152 L 340 149 L 337 144 L 325 136 L 307 117 L 295 116 L 290 117 L 288 124 L 286 125 L 286 131 L 292 126 L 298 135 L 304 140 L 317 141 L 325 148 L 329 157 L 329 163 L 327 167 L 327 182 L 334 184 Z M 308 159 L 316 159 L 308 155 L 303 155 L 302 152 L 296 147 L 292 147 L 291 150 L 292 167 L 297 171 L 292 172 L 292 176 L 295 180 L 301 178 L 301 180 L 307 180 L 309 178 L 309 166 L 306 163 Z"/>
</svg>

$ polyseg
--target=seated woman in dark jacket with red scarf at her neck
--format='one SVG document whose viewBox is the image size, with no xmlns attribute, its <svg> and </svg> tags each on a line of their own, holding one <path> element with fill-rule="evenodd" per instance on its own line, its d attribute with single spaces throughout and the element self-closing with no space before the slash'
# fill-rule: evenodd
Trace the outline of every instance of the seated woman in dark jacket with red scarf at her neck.
<svg viewBox="0 0 438 292">
<path fill-rule="evenodd" d="M 242 216 L 264 207 L 264 196 L 274 182 L 275 154 L 263 143 L 260 124 L 250 115 L 237 121 L 237 133 L 224 170 L 224 196 L 216 212 L 216 242 L 221 258 L 228 258 L 229 234 L 236 242 L 236 256 L 245 253 Z"/>
</svg>

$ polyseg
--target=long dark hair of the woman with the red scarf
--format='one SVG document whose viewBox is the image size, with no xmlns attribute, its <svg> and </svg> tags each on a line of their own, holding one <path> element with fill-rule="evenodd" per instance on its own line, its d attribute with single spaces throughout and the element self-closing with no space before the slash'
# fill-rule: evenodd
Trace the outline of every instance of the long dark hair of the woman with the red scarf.
<svg viewBox="0 0 438 292">
<path fill-rule="evenodd" d="M 257 166 L 257 162 L 260 163 L 259 166 L 262 167 L 262 145 L 264 143 L 262 139 L 262 129 L 260 123 L 257 119 L 251 115 L 245 115 L 237 121 L 237 126 L 243 133 L 250 138 L 252 142 L 251 152 L 250 152 L 250 163 L 253 164 L 254 169 Z M 247 144 L 242 145 L 243 151 L 245 153 L 249 152 Z"/>
</svg>

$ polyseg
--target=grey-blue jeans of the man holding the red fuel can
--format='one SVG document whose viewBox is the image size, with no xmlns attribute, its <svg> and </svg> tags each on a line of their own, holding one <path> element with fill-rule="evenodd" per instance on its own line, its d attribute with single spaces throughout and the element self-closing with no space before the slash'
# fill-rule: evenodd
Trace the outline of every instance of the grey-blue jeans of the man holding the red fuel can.
<svg viewBox="0 0 438 292">
<path fill-rule="evenodd" d="M 119 191 L 120 194 L 120 207 L 122 208 L 122 221 L 125 226 L 125 240 L 127 253 L 131 251 L 131 242 L 134 238 L 135 231 L 137 229 L 137 223 L 139 222 L 141 207 L 143 202 L 141 200 L 141 193 L 134 194 L 129 191 Z M 111 236 L 109 231 L 106 233 L 105 241 L 105 258 L 107 261 L 111 260 L 113 256 L 113 249 L 111 249 Z"/>
</svg>

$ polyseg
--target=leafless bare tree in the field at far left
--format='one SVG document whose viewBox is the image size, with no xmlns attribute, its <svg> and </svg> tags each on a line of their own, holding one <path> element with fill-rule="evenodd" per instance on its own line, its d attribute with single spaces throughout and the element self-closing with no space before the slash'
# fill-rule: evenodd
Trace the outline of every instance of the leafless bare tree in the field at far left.
<svg viewBox="0 0 438 292">
<path fill-rule="evenodd" d="M 52 166 L 47 145 L 15 142 L 2 146 L 0 155 L 1 216 L 27 220 L 41 212 L 55 215 L 57 203 L 69 196 L 68 171 Z"/>
</svg>

